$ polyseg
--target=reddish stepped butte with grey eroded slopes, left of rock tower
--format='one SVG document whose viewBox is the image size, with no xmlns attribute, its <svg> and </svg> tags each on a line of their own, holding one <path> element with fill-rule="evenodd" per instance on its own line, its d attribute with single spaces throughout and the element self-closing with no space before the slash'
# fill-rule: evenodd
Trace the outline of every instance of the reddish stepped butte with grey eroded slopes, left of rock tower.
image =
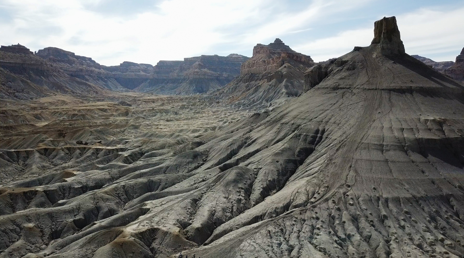
<svg viewBox="0 0 464 258">
<path fill-rule="evenodd" d="M 240 75 L 213 97 L 238 106 L 281 104 L 303 92 L 303 73 L 314 65 L 309 55 L 290 49 L 279 38 L 268 45 L 257 44 Z"/>
</svg>

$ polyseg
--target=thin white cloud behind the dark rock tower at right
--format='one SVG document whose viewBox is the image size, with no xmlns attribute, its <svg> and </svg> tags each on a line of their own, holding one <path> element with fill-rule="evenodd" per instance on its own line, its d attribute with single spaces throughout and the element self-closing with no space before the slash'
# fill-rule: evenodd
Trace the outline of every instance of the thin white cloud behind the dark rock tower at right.
<svg viewBox="0 0 464 258">
<path fill-rule="evenodd" d="M 450 11 L 419 9 L 396 16 L 406 53 L 436 56 L 434 61 L 454 61 L 464 47 L 464 8 Z M 374 24 L 336 36 L 316 39 L 294 47 L 310 53 L 315 61 L 339 57 L 354 46 L 367 46 L 374 37 Z"/>
</svg>

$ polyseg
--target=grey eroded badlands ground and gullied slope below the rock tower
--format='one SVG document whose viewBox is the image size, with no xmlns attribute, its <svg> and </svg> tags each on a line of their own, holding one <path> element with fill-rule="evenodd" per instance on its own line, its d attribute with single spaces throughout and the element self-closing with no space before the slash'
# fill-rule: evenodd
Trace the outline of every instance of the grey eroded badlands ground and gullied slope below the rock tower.
<svg viewBox="0 0 464 258">
<path fill-rule="evenodd" d="M 463 86 L 375 48 L 272 111 L 9 102 L 0 257 L 462 257 Z"/>
</svg>

